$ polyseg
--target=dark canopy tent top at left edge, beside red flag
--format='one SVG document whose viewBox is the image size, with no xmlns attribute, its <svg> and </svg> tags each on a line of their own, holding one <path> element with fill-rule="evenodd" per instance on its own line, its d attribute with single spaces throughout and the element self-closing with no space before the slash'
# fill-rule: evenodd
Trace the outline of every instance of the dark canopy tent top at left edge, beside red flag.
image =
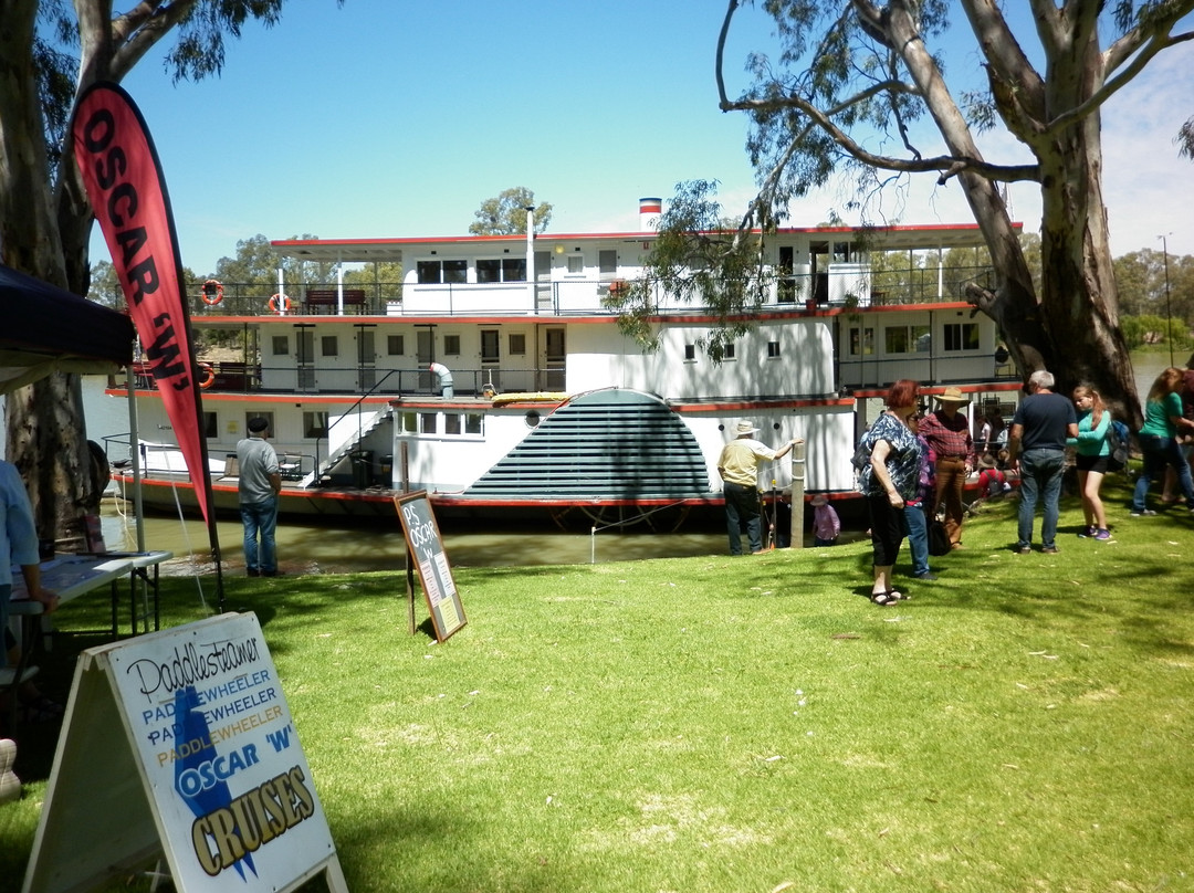
<svg viewBox="0 0 1194 893">
<path fill-rule="evenodd" d="M 0 394 L 51 372 L 115 372 L 133 362 L 133 321 L 0 264 Z"/>
</svg>

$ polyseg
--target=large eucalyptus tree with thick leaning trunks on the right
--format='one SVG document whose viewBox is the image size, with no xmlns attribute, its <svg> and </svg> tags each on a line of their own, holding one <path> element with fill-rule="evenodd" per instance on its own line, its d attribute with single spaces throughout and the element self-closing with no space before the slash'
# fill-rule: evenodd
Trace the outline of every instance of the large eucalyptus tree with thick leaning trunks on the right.
<svg viewBox="0 0 1194 893">
<path fill-rule="evenodd" d="M 967 300 L 996 321 L 1021 374 L 1050 368 L 1065 390 L 1089 380 L 1138 420 L 1118 324 L 1101 123 L 1108 99 L 1194 37 L 1181 30 L 1194 0 L 765 0 L 777 51 L 752 55 L 750 86 L 731 97 L 724 51 L 743 5 L 730 0 L 716 48 L 720 107 L 752 125 L 746 148 L 759 191 L 741 232 L 765 232 L 789 202 L 830 181 L 850 184 L 864 220 L 894 181 L 925 174 L 958 184 L 997 270 Z M 983 154 L 979 136 L 992 129 L 1020 144 L 1017 158 Z M 1192 129 L 1194 119 L 1178 134 L 1186 154 Z M 1039 288 L 1008 210 L 1009 184 L 1040 191 Z"/>
</svg>

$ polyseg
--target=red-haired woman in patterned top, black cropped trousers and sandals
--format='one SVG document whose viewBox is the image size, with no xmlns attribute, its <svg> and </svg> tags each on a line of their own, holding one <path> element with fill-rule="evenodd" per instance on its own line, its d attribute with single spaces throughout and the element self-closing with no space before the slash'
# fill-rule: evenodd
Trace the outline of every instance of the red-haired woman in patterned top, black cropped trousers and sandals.
<svg viewBox="0 0 1194 893">
<path fill-rule="evenodd" d="M 915 499 L 921 484 L 921 444 L 907 426 L 916 412 L 919 384 L 900 378 L 887 392 L 887 409 L 875 419 L 867 439 L 870 464 L 860 484 L 870 510 L 870 543 L 874 549 L 874 583 L 870 601 L 896 604 L 904 596 L 892 587 L 892 567 L 904 541 L 904 500 Z"/>
</svg>

